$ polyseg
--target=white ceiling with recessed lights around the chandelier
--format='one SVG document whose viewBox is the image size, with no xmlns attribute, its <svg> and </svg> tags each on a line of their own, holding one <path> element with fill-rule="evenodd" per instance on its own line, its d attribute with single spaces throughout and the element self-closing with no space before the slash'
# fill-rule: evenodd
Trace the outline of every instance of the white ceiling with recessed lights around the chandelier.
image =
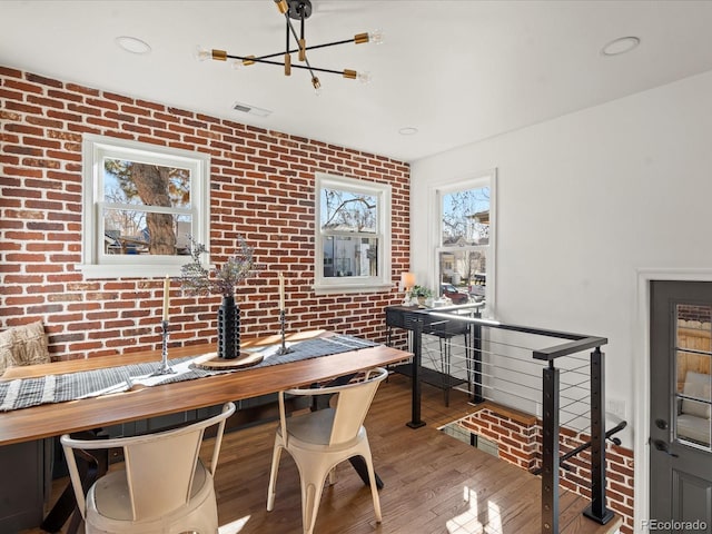
<svg viewBox="0 0 712 534">
<path fill-rule="evenodd" d="M 4 0 L 0 65 L 405 161 L 712 69 L 712 1 L 313 3 L 308 44 L 383 30 L 383 44 L 308 55 L 315 67 L 369 71 L 369 85 L 322 75 L 316 97 L 306 71 L 287 78 L 280 67 L 195 59 L 198 44 L 283 50 L 273 0 Z M 119 36 L 152 51 L 128 53 Z M 601 55 L 623 36 L 640 47 Z M 240 113 L 236 101 L 273 113 Z M 402 136 L 403 127 L 418 134 Z"/>
</svg>

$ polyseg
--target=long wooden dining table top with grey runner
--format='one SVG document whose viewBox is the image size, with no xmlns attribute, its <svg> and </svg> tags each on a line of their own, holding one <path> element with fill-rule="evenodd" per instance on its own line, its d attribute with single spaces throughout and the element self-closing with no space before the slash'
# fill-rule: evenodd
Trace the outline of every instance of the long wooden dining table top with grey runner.
<svg viewBox="0 0 712 534">
<path fill-rule="evenodd" d="M 287 335 L 286 342 L 298 343 L 330 335 L 333 334 L 326 330 L 309 330 Z M 279 336 L 268 336 L 244 340 L 241 346 L 249 348 L 275 345 L 279 342 Z M 215 352 L 215 346 L 201 344 L 170 348 L 169 352 L 170 358 L 181 358 Z M 246 368 L 194 380 L 151 387 L 134 386 L 129 390 L 116 394 L 3 412 L 0 413 L 0 446 L 215 406 L 230 400 L 254 398 L 370 367 L 404 362 L 411 356 L 409 353 L 378 345 L 298 362 Z M 10 367 L 0 380 L 160 360 L 160 350 L 68 359 L 27 367 Z"/>
</svg>

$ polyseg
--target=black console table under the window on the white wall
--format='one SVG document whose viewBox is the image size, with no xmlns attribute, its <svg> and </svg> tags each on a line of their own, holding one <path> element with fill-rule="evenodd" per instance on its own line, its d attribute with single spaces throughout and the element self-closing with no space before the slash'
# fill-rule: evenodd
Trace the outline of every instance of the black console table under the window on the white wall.
<svg viewBox="0 0 712 534">
<path fill-rule="evenodd" d="M 414 324 L 421 320 L 423 324 L 423 334 L 435 336 L 441 344 L 442 370 L 423 367 L 421 365 L 421 379 L 435 387 L 439 387 L 444 392 L 445 405 L 449 403 L 449 389 L 461 384 L 467 383 L 472 400 L 481 403 L 484 400 L 482 396 L 482 336 L 479 325 L 468 322 L 444 319 L 442 315 L 435 316 L 434 313 L 466 313 L 472 317 L 479 318 L 479 308 L 477 306 L 448 306 L 446 308 L 421 308 L 418 306 L 387 306 L 386 314 L 386 343 L 390 345 L 390 336 L 393 328 L 408 330 L 415 329 Z M 455 336 L 464 336 L 465 362 L 467 366 L 467 378 L 457 378 L 451 375 L 451 339 Z M 412 376 L 412 365 L 399 365 L 394 370 Z"/>
</svg>

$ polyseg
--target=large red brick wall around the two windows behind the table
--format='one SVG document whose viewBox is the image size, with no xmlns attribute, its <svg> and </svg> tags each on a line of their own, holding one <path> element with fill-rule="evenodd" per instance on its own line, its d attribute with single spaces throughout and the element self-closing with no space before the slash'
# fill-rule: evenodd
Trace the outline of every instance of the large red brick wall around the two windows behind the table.
<svg viewBox="0 0 712 534">
<path fill-rule="evenodd" d="M 288 328 L 383 340 L 409 261 L 409 167 L 364 154 L 0 67 L 0 329 L 42 319 L 55 358 L 159 348 L 161 279 L 86 280 L 81 263 L 82 134 L 211 156 L 210 240 L 219 264 L 244 235 L 265 270 L 240 285 L 243 337 L 278 332 L 277 274 Z M 393 187 L 394 288 L 316 296 L 315 172 Z M 171 346 L 216 342 L 219 297 L 171 285 Z"/>
</svg>

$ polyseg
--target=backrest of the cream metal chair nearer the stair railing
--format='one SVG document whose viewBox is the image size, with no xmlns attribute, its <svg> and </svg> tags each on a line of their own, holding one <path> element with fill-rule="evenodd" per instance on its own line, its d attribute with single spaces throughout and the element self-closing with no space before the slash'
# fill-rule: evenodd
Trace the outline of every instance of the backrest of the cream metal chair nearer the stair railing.
<svg viewBox="0 0 712 534">
<path fill-rule="evenodd" d="M 338 394 L 329 438 L 329 445 L 336 445 L 348 442 L 358 434 L 376 395 L 376 389 L 387 376 L 387 369 L 376 367 L 368 369 L 360 382 L 333 387 L 289 389 L 286 393 L 293 395 Z M 286 436 L 284 429 L 283 436 Z"/>
</svg>

